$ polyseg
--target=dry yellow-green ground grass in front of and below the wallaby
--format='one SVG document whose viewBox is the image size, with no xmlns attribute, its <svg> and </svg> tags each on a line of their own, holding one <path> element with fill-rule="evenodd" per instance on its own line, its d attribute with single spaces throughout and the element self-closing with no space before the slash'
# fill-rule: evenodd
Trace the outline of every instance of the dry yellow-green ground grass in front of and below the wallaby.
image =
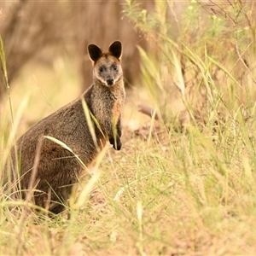
<svg viewBox="0 0 256 256">
<path fill-rule="evenodd" d="M 11 211 L 2 196 L 0 254 L 255 254 L 254 124 L 238 114 L 214 140 L 211 126 L 180 133 L 154 124 L 148 139 L 150 129 L 138 136 L 125 125 L 123 149 L 109 148 L 99 175 L 84 179 L 83 203 L 70 219 Z M 1 154 L 7 151 L 2 143 Z"/>
</svg>

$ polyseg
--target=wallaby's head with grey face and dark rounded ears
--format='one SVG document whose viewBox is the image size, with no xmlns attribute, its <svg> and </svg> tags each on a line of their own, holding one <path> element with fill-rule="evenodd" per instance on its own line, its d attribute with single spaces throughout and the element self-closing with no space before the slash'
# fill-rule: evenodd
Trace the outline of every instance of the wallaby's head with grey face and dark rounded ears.
<svg viewBox="0 0 256 256">
<path fill-rule="evenodd" d="M 123 77 L 121 68 L 122 44 L 115 41 L 110 44 L 107 53 L 103 53 L 102 49 L 96 44 L 89 44 L 88 54 L 92 61 L 93 79 L 100 81 L 105 86 L 113 86 L 119 79 Z"/>
</svg>

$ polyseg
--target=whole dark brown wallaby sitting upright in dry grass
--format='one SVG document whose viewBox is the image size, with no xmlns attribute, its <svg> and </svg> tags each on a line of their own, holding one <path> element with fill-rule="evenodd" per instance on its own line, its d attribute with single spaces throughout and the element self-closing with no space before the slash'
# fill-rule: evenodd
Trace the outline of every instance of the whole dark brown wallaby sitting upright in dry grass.
<svg viewBox="0 0 256 256">
<path fill-rule="evenodd" d="M 107 53 L 90 44 L 88 54 L 93 63 L 93 84 L 79 99 L 26 131 L 11 149 L 11 165 L 4 170 L 5 186 L 12 188 L 14 195 L 21 190 L 26 198 L 29 190 L 34 189 L 34 203 L 54 213 L 65 209 L 63 203 L 83 171 L 79 160 L 89 166 L 107 141 L 116 150 L 122 146 L 122 44 L 113 42 Z M 89 115 L 84 113 L 84 105 Z"/>
</svg>

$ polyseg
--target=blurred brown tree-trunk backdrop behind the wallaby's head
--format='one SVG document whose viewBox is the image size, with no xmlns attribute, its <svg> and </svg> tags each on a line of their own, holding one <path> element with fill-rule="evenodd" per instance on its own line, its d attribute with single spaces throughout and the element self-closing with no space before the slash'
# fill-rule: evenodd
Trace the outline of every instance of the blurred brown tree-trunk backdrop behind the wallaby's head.
<svg viewBox="0 0 256 256">
<path fill-rule="evenodd" d="M 0 33 L 3 38 L 9 83 L 27 63 L 53 65 L 59 56 L 68 55 L 79 69 L 81 88 L 90 86 L 91 67 L 87 45 L 107 49 L 114 40 L 124 44 L 124 69 L 127 84 L 139 77 L 137 44 L 145 40 L 135 32 L 122 13 L 124 2 L 1 2 Z M 143 3 L 153 8 L 154 3 Z M 2 82 L 2 81 L 1 81 Z M 4 87 L 0 86 L 0 97 Z"/>
</svg>

